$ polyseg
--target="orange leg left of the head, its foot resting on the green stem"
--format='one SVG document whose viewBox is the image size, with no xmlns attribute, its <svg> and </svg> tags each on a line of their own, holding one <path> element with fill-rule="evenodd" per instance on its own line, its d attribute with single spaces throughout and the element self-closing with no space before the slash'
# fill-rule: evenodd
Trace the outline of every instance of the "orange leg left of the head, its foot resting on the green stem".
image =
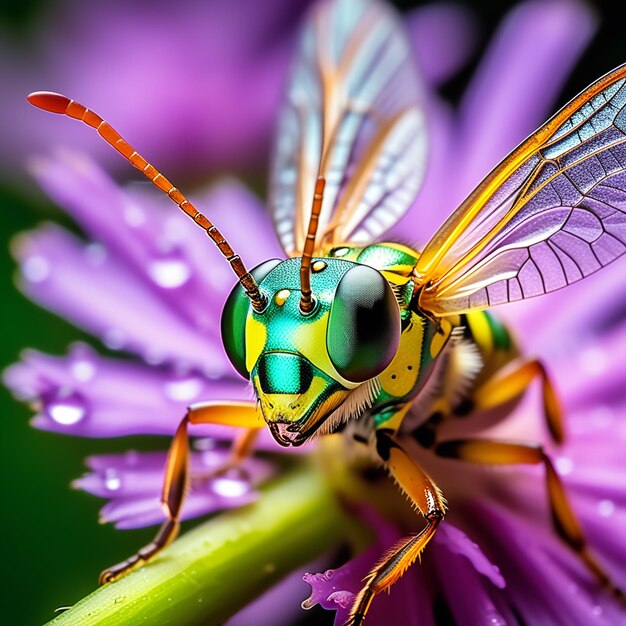
<svg viewBox="0 0 626 626">
<path fill-rule="evenodd" d="M 165 479 L 161 502 L 167 515 L 154 539 L 121 563 L 100 574 L 101 585 L 122 577 L 129 571 L 149 561 L 174 540 L 180 527 L 180 511 L 189 483 L 189 424 L 228 424 L 245 429 L 258 430 L 264 425 L 253 402 L 198 403 L 187 409 L 170 445 L 165 464 Z"/>
</svg>

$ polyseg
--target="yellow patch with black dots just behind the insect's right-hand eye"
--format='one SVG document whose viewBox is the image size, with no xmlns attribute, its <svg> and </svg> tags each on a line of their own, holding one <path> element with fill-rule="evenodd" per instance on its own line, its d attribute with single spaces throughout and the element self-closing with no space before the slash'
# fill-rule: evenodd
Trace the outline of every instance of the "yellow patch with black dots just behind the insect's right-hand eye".
<svg viewBox="0 0 626 626">
<path fill-rule="evenodd" d="M 419 318 L 413 316 L 413 324 L 400 335 L 396 356 L 378 377 L 388 394 L 401 397 L 413 389 L 420 373 L 423 342 L 424 327 Z"/>
</svg>

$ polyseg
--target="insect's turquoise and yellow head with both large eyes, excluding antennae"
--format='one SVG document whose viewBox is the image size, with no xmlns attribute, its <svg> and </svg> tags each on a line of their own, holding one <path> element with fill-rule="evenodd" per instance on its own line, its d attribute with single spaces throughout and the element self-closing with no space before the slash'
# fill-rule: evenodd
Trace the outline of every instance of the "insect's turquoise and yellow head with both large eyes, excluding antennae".
<svg viewBox="0 0 626 626">
<path fill-rule="evenodd" d="M 315 306 L 300 310 L 299 258 L 252 270 L 267 306 L 257 312 L 237 285 L 222 316 L 226 352 L 249 377 L 266 422 L 283 445 L 310 437 L 363 382 L 391 362 L 400 313 L 377 270 L 343 259 L 314 259 Z"/>
</svg>

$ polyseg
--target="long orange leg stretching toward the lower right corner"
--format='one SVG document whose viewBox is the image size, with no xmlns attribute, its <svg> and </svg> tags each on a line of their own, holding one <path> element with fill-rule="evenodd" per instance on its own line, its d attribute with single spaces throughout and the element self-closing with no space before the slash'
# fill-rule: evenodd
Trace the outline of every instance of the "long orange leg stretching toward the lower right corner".
<svg viewBox="0 0 626 626">
<path fill-rule="evenodd" d="M 582 526 L 565 491 L 565 485 L 542 446 L 487 439 L 457 439 L 438 444 L 435 454 L 484 465 L 543 464 L 546 471 L 550 512 L 557 533 L 580 556 L 601 584 L 608 587 L 615 595 L 624 597 L 623 592 L 611 582 L 604 568 L 590 551 Z"/>
</svg>

